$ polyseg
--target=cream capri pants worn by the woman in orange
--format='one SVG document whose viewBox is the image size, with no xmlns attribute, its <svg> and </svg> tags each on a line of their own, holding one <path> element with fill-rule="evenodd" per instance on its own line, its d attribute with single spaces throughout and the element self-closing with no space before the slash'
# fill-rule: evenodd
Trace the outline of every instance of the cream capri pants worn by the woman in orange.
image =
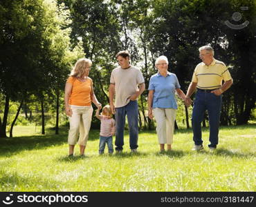
<svg viewBox="0 0 256 207">
<path fill-rule="evenodd" d="M 72 117 L 69 117 L 68 144 L 86 146 L 91 128 L 92 106 L 71 106 Z M 77 141 L 79 133 L 79 139 Z"/>
</svg>

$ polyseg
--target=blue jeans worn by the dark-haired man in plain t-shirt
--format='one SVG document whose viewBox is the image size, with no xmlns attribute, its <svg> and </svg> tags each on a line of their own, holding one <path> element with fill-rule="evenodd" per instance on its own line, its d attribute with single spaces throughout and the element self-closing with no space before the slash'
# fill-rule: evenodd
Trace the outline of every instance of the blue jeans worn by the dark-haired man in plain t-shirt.
<svg viewBox="0 0 256 207">
<path fill-rule="evenodd" d="M 116 108 L 116 150 L 122 150 L 124 145 L 125 116 L 129 125 L 130 148 L 138 148 L 138 102 L 129 101 L 126 106 Z"/>
</svg>

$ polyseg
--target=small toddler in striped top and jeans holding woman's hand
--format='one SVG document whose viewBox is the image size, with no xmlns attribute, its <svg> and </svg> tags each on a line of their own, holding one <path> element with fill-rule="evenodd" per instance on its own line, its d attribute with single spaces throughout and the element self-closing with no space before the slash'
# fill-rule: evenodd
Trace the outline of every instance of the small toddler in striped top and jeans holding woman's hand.
<svg viewBox="0 0 256 207">
<path fill-rule="evenodd" d="M 109 154 L 113 154 L 113 138 L 115 135 L 115 120 L 111 117 L 112 112 L 109 105 L 102 108 L 102 115 L 99 115 L 100 108 L 96 111 L 96 117 L 100 119 L 100 145 L 99 154 L 104 153 L 104 148 L 107 143 Z"/>
</svg>

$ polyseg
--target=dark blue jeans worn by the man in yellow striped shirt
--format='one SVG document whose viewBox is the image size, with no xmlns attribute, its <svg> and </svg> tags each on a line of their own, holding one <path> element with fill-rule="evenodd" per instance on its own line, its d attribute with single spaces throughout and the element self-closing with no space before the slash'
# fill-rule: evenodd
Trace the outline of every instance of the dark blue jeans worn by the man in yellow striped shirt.
<svg viewBox="0 0 256 207">
<path fill-rule="evenodd" d="M 210 125 L 210 144 L 211 148 L 216 148 L 219 141 L 219 117 L 221 114 L 221 102 L 222 95 L 217 96 L 211 92 L 196 92 L 194 100 L 194 107 L 192 112 L 192 128 L 193 128 L 193 140 L 194 144 L 203 144 L 201 122 L 203 121 L 203 115 L 205 110 L 208 110 L 209 125 Z"/>
</svg>

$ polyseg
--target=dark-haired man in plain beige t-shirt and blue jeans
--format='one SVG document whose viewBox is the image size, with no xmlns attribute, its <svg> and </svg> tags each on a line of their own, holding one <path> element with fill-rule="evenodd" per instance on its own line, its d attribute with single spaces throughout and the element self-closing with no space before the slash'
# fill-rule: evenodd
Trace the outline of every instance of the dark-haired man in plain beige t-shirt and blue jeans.
<svg viewBox="0 0 256 207">
<path fill-rule="evenodd" d="M 118 52 L 116 59 L 120 66 L 111 72 L 109 86 L 109 105 L 116 117 L 116 152 L 122 152 L 124 145 L 126 115 L 131 152 L 136 152 L 138 148 L 138 102 L 136 99 L 145 90 L 145 81 L 142 72 L 130 65 L 129 52 Z M 114 96 L 115 103 L 113 103 Z"/>
</svg>

